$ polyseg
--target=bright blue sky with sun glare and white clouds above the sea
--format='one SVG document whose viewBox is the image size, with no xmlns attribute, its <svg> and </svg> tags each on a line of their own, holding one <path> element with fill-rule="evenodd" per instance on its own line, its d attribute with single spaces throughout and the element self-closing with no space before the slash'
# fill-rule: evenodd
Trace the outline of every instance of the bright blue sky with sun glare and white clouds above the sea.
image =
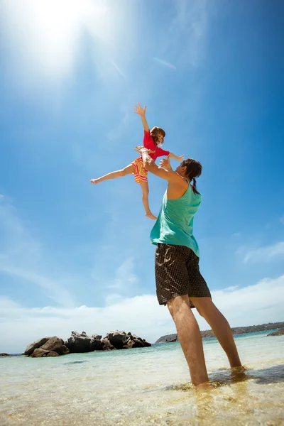
<svg viewBox="0 0 284 426">
<path fill-rule="evenodd" d="M 136 158 L 136 102 L 165 149 L 203 165 L 195 237 L 214 302 L 232 326 L 284 320 L 283 2 L 1 7 L 0 351 L 72 329 L 174 332 L 140 187 L 89 183 Z M 158 214 L 166 182 L 149 185 Z"/>
</svg>

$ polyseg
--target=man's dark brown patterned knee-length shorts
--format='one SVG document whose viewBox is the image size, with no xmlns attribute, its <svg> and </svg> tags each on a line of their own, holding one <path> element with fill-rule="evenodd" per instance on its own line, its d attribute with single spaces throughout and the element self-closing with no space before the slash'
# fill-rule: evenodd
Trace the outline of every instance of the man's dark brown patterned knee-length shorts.
<svg viewBox="0 0 284 426">
<path fill-rule="evenodd" d="M 177 296 L 211 297 L 200 273 L 200 258 L 185 246 L 158 244 L 155 250 L 155 285 L 158 302 L 166 305 Z M 195 307 L 190 300 L 190 307 Z"/>
</svg>

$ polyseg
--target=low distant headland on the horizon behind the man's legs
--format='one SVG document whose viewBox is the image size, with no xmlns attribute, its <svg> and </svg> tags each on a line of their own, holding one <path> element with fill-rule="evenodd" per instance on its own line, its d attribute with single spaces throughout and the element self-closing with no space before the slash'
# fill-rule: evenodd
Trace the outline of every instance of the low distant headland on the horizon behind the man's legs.
<svg viewBox="0 0 284 426">
<path fill-rule="evenodd" d="M 235 334 L 244 334 L 244 333 L 256 333 L 256 332 L 265 332 L 266 330 L 275 330 L 281 329 L 284 327 L 284 322 L 268 322 L 267 324 L 261 325 L 249 325 L 248 327 L 233 327 L 231 332 Z M 204 330 L 201 332 L 202 338 L 207 339 L 209 337 L 215 337 L 212 330 Z M 167 334 L 166 336 L 160 337 L 155 343 L 168 343 L 168 342 L 177 342 L 178 334 Z"/>
</svg>

